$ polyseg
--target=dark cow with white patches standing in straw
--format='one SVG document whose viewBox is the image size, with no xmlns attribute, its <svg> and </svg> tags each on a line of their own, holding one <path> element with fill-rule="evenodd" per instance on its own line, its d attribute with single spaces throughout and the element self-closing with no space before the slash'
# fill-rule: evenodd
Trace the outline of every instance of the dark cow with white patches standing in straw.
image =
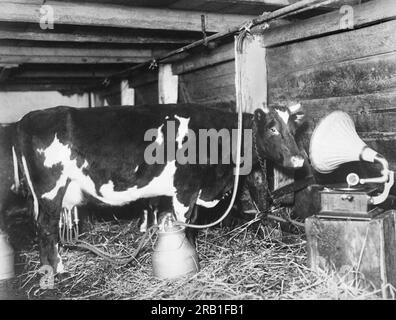
<svg viewBox="0 0 396 320">
<path fill-rule="evenodd" d="M 243 165 L 248 156 L 252 166 L 260 159 L 292 170 L 303 165 L 294 140 L 302 114 L 295 111 L 263 106 L 254 114 L 243 114 Z M 172 125 L 174 135 L 168 131 Z M 63 208 L 72 210 L 85 203 L 122 206 L 166 196 L 172 200 L 177 220 L 194 223 L 195 204 L 214 207 L 232 190 L 235 161 L 182 163 L 172 156 L 163 163 L 151 160 L 161 148 L 178 152 L 187 144 L 198 146 L 191 135 L 198 136 L 201 129 L 236 130 L 237 126 L 237 114 L 199 104 L 58 106 L 26 114 L 16 124 L 13 153 L 33 198 L 41 263 L 58 273 L 64 271 L 58 252 Z M 245 139 L 249 132 L 253 144 Z M 227 152 L 235 156 L 235 139 L 232 144 L 218 140 L 219 158 Z M 150 161 L 148 149 L 153 156 Z"/>
</svg>

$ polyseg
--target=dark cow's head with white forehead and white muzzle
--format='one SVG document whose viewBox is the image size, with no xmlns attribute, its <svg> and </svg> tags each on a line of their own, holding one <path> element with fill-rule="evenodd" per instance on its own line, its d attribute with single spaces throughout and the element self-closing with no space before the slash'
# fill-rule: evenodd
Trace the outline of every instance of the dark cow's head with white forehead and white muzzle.
<svg viewBox="0 0 396 320">
<path fill-rule="evenodd" d="M 304 158 L 297 147 L 294 135 L 303 123 L 301 105 L 291 107 L 266 107 L 254 112 L 257 127 L 257 150 L 263 158 L 285 168 L 303 166 Z"/>
</svg>

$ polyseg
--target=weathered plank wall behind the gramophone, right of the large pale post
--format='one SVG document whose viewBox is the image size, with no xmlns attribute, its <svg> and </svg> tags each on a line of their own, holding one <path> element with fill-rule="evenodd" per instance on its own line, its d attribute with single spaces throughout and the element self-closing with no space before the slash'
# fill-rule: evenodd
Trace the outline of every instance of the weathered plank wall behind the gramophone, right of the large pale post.
<svg viewBox="0 0 396 320">
<path fill-rule="evenodd" d="M 267 48 L 268 102 L 301 102 L 317 121 L 333 110 L 396 169 L 396 21 Z"/>
</svg>

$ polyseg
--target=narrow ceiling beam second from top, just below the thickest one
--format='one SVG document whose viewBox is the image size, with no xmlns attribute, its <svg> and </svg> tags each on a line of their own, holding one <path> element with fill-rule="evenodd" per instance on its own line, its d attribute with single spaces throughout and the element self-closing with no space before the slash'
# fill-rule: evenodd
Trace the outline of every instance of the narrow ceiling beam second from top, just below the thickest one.
<svg viewBox="0 0 396 320">
<path fill-rule="evenodd" d="M 82 43 L 126 43 L 126 44 L 188 44 L 199 37 L 148 35 L 142 32 L 100 32 L 78 30 L 70 33 L 53 32 L 51 30 L 0 30 L 0 40 L 29 40 L 52 42 L 82 42 Z"/>
</svg>

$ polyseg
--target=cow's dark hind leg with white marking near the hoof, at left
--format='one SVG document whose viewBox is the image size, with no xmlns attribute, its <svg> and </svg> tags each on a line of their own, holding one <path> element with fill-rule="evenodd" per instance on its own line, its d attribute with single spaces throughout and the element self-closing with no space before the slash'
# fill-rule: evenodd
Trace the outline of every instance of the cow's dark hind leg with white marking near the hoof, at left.
<svg viewBox="0 0 396 320">
<path fill-rule="evenodd" d="M 62 258 L 59 255 L 58 230 L 61 203 L 49 200 L 40 201 L 38 218 L 38 243 L 42 265 L 49 265 L 56 273 L 65 272 Z"/>
</svg>

